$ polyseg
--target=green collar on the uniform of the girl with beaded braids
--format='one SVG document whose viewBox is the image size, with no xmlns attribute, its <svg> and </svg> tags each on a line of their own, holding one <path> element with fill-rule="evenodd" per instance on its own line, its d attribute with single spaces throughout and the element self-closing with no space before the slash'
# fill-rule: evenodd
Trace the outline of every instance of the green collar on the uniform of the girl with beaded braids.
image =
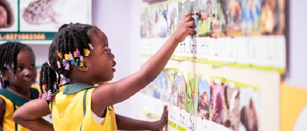
<svg viewBox="0 0 307 131">
<path fill-rule="evenodd" d="M 85 84 L 85 83 L 75 83 L 75 84 L 69 84 L 66 85 L 63 91 L 63 94 L 74 94 L 77 93 L 79 91 L 85 90 L 85 89 L 89 89 L 89 88 L 93 88 L 94 86 L 89 85 L 89 84 Z"/>
</svg>

